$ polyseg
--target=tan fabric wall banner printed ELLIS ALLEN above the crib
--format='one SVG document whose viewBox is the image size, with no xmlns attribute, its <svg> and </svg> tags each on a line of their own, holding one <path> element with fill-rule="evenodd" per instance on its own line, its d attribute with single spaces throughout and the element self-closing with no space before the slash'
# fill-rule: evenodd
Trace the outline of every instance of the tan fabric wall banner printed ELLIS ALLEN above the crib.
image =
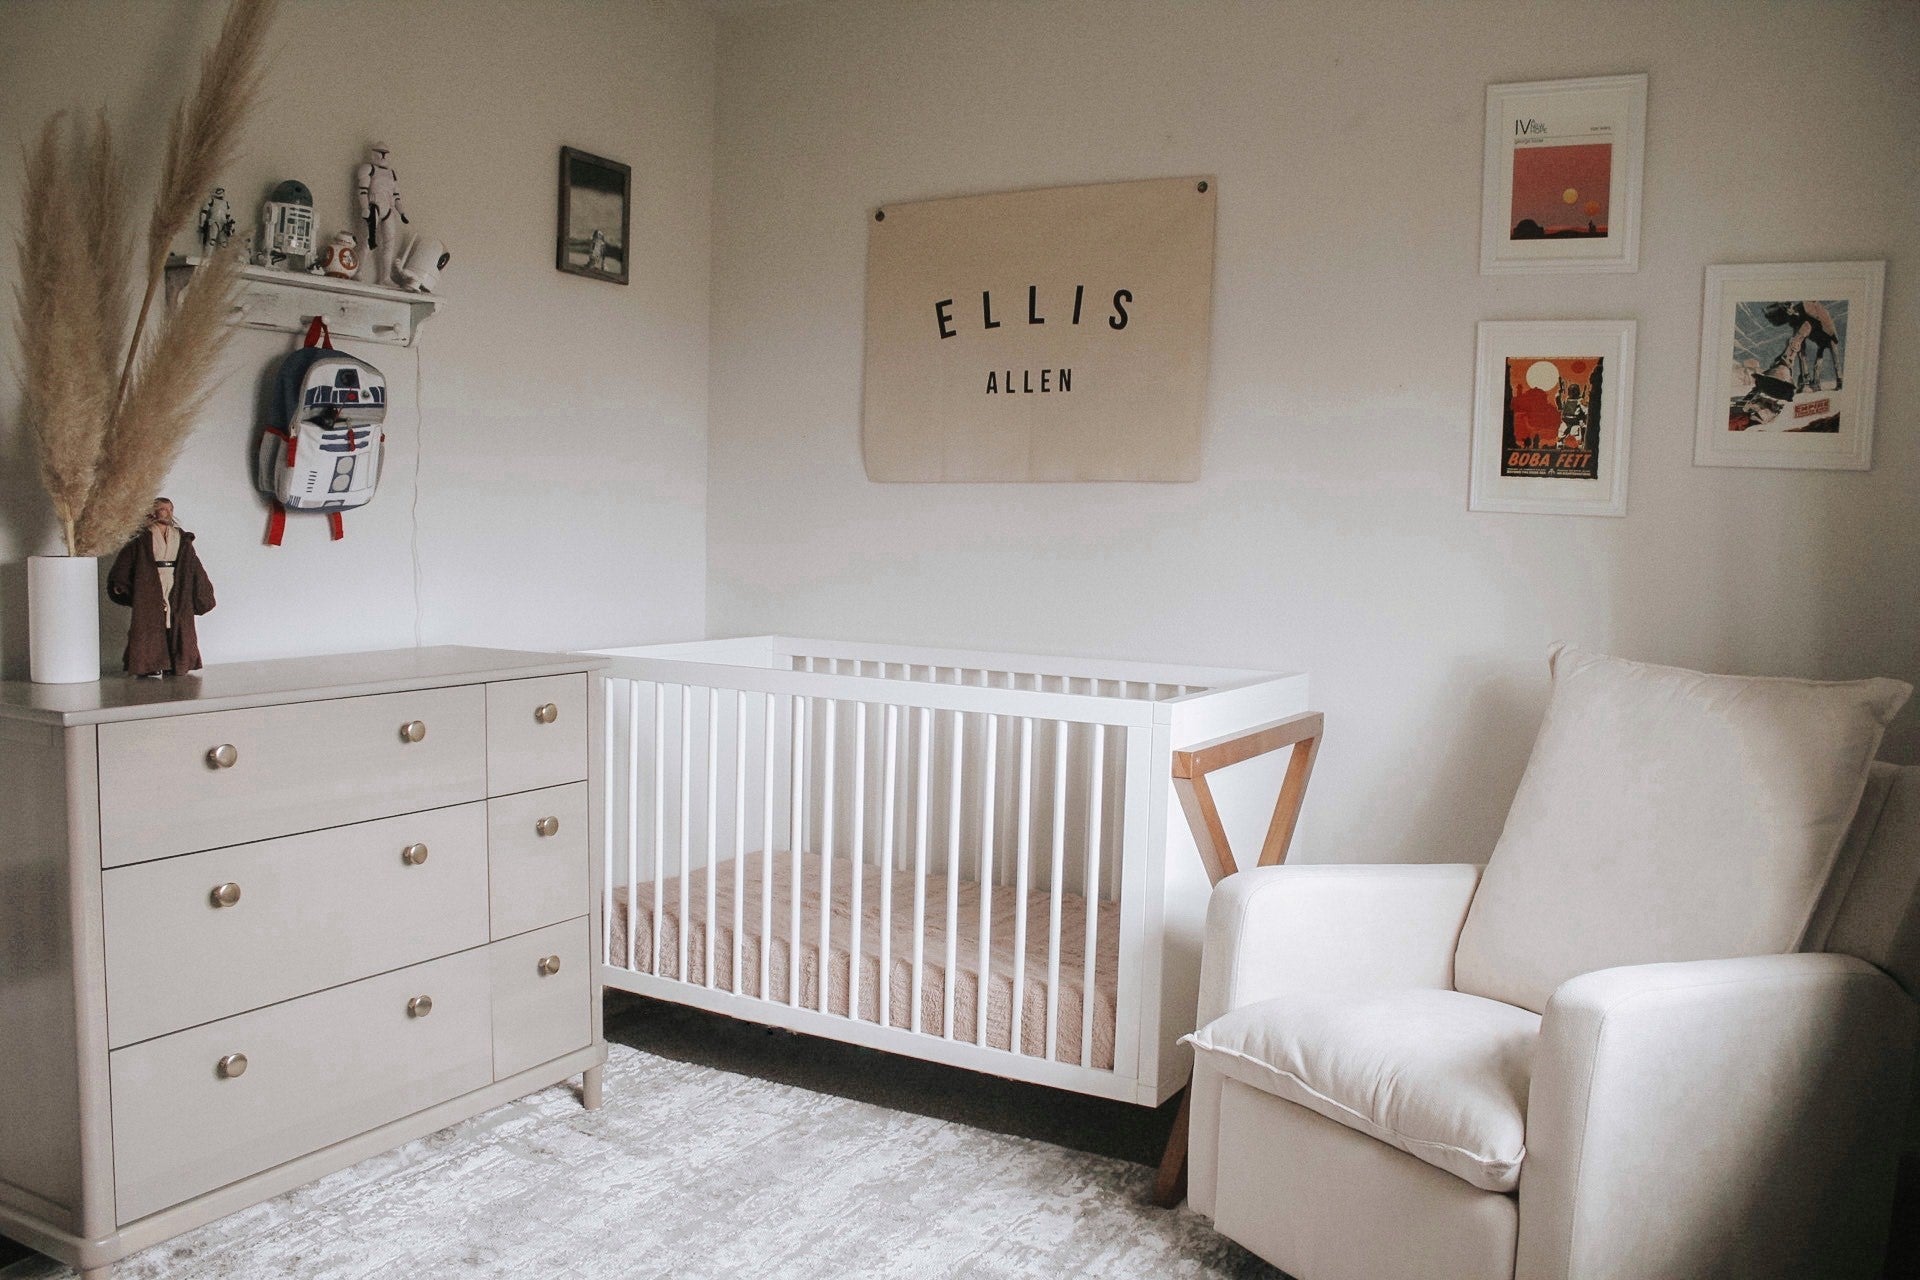
<svg viewBox="0 0 1920 1280">
<path fill-rule="evenodd" d="M 1192 177 L 876 209 L 868 478 L 1198 480 L 1213 201 Z"/>
</svg>

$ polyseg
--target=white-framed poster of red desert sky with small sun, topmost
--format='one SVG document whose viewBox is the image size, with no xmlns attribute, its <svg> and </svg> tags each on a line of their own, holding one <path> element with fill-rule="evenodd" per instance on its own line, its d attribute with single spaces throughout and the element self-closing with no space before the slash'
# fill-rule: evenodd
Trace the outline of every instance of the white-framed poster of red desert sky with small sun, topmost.
<svg viewBox="0 0 1920 1280">
<path fill-rule="evenodd" d="M 1647 77 L 1490 84 L 1480 273 L 1638 271 Z"/>
</svg>

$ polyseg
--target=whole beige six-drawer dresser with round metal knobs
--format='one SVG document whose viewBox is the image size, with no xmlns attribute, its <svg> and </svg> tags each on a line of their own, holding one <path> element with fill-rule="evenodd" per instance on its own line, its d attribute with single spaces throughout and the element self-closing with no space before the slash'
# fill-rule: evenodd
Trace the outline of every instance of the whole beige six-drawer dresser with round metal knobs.
<svg viewBox="0 0 1920 1280">
<path fill-rule="evenodd" d="M 593 658 L 451 647 L 0 685 L 0 1234 L 104 1268 L 599 1105 L 599 708 Z"/>
</svg>

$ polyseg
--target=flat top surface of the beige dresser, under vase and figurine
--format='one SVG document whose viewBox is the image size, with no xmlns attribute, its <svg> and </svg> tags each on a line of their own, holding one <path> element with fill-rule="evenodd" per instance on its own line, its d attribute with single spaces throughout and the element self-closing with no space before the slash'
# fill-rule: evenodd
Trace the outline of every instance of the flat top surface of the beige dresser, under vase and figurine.
<svg viewBox="0 0 1920 1280">
<path fill-rule="evenodd" d="M 0 720 L 56 725 L 156 720 L 240 706 L 468 685 L 488 679 L 566 676 L 603 666 L 607 666 L 607 658 L 591 654 L 434 645 L 267 662 L 225 662 L 192 676 L 163 679 L 108 676 L 86 685 L 0 681 Z"/>
</svg>

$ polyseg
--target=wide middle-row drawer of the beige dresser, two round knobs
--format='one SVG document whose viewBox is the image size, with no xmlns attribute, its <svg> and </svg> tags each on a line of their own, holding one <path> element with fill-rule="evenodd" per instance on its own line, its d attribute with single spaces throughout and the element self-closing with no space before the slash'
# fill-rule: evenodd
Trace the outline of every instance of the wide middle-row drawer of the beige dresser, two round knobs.
<svg viewBox="0 0 1920 1280">
<path fill-rule="evenodd" d="M 104 873 L 111 1044 L 488 940 L 486 804 Z M 232 904 L 215 890 L 232 887 Z"/>
</svg>

